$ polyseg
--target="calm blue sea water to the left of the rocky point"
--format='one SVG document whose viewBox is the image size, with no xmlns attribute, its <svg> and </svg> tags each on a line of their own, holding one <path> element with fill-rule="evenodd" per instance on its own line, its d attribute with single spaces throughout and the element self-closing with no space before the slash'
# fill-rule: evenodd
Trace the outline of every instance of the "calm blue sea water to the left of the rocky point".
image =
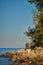
<svg viewBox="0 0 43 65">
<path fill-rule="evenodd" d="M 0 55 L 5 54 L 6 52 L 17 51 L 20 49 L 21 48 L 0 48 Z M 14 63 L 9 60 L 9 58 L 0 57 L 0 65 L 14 65 Z"/>
</svg>

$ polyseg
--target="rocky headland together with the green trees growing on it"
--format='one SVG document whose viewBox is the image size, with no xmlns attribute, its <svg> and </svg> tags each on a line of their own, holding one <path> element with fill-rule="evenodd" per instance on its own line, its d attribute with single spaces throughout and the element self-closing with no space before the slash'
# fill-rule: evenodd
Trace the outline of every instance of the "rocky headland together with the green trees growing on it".
<svg viewBox="0 0 43 65">
<path fill-rule="evenodd" d="M 7 52 L 0 57 L 9 58 L 13 65 L 43 65 L 43 0 L 28 0 L 36 5 L 34 14 L 34 28 L 28 29 L 25 35 L 31 37 L 31 45 L 26 43 L 26 49 Z"/>
</svg>

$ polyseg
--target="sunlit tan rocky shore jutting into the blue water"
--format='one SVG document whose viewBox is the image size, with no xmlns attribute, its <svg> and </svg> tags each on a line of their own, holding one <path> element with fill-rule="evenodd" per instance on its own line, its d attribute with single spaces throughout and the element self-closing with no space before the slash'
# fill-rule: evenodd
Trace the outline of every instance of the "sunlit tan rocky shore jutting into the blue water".
<svg viewBox="0 0 43 65">
<path fill-rule="evenodd" d="M 14 65 L 43 65 L 43 48 L 20 49 L 18 51 L 7 52 L 0 57 L 9 58 Z"/>
</svg>

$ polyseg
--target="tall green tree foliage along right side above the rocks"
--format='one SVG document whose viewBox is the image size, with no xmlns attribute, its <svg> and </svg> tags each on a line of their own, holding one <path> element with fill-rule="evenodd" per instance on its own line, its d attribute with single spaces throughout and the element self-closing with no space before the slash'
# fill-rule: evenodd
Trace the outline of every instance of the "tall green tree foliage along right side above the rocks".
<svg viewBox="0 0 43 65">
<path fill-rule="evenodd" d="M 28 0 L 30 3 L 34 3 L 38 12 L 34 12 L 34 22 L 37 24 L 35 28 L 30 28 L 25 32 L 26 36 L 31 36 L 35 46 L 43 47 L 43 0 Z"/>
</svg>

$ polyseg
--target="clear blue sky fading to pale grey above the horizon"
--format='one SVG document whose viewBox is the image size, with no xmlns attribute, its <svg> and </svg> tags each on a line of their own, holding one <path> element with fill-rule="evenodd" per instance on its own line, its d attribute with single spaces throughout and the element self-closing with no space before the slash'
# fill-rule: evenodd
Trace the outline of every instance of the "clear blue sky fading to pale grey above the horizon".
<svg viewBox="0 0 43 65">
<path fill-rule="evenodd" d="M 27 0 L 0 0 L 0 48 L 24 48 L 31 41 L 24 32 L 33 27 L 33 9 Z"/>
</svg>

